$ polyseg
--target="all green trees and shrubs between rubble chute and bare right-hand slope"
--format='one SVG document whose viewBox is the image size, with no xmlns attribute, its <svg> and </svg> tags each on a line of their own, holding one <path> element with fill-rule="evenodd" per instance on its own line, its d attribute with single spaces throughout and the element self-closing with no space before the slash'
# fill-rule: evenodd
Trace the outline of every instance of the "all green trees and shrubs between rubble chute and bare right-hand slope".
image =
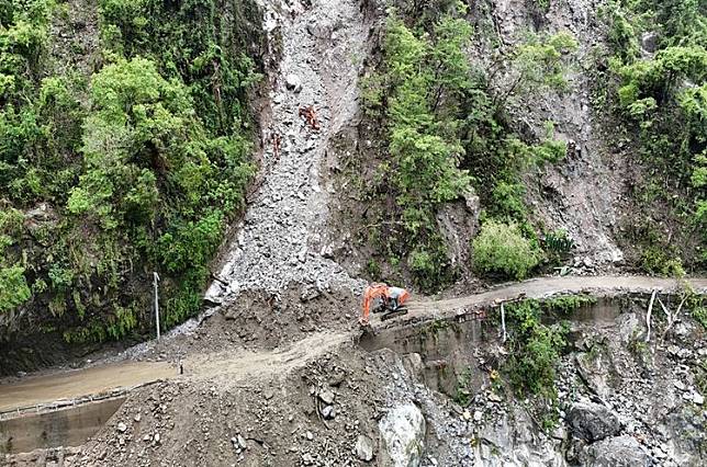
<svg viewBox="0 0 707 467">
<path fill-rule="evenodd" d="M 420 289 L 439 289 L 456 270 L 436 216 L 445 204 L 475 191 L 482 221 L 495 223 L 485 228 L 484 243 L 512 239 L 525 247 L 486 248 L 476 269 L 521 278 L 540 259 L 541 234 L 529 219 L 521 176 L 562 159 L 565 145 L 553 139 L 551 124 L 545 139 L 523 141 L 507 107 L 531 89 L 564 88 L 564 60 L 576 41 L 566 33 L 531 35 L 496 69 L 482 71 L 465 55 L 472 35 L 465 5 L 435 5 L 390 12 L 382 61 L 363 81 L 367 113 L 382 124 L 386 139 L 384 160 L 367 181 L 371 201 L 382 206 L 371 209 L 379 218 L 370 241 L 384 252 L 382 261 L 409 271 Z M 492 86 L 495 73 L 507 75 L 509 82 Z M 370 264 L 369 271 L 379 273 Z"/>
</svg>

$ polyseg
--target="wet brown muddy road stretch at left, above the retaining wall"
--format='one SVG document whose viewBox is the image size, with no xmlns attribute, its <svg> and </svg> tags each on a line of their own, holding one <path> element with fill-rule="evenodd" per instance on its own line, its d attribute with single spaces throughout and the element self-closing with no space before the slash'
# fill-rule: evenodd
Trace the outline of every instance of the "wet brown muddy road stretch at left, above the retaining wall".
<svg viewBox="0 0 707 467">
<path fill-rule="evenodd" d="M 165 362 L 131 362 L 30 376 L 0 385 L 0 412 L 139 386 L 176 375 L 177 371 Z"/>
</svg>

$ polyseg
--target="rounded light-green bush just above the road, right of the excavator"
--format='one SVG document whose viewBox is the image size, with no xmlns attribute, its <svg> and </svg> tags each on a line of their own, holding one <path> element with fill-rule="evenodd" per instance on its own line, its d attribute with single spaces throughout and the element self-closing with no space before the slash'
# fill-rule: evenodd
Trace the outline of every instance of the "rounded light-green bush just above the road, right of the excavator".
<svg viewBox="0 0 707 467">
<path fill-rule="evenodd" d="M 540 261 L 540 252 L 514 223 L 487 220 L 473 240 L 474 266 L 483 273 L 523 280 Z"/>
</svg>

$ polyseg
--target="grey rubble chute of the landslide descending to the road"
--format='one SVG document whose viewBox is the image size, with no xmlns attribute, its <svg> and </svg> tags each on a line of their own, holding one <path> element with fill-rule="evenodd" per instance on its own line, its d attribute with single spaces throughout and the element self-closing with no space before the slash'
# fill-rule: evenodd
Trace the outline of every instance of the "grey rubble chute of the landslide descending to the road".
<svg viewBox="0 0 707 467">
<path fill-rule="evenodd" d="M 356 57 L 368 53 L 367 21 L 354 0 L 263 7 L 265 27 L 271 42 L 281 42 L 282 55 L 269 78 L 271 107 L 260 122 L 265 178 L 206 298 L 279 293 L 291 283 L 361 292 L 363 283 L 330 260 L 324 241 L 330 187 L 321 170 L 330 136 L 358 109 Z"/>
</svg>

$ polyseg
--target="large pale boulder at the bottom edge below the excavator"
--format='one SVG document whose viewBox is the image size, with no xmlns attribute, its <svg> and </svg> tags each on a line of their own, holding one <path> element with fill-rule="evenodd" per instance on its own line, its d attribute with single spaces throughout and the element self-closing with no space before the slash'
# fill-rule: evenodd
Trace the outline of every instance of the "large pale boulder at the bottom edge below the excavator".
<svg viewBox="0 0 707 467">
<path fill-rule="evenodd" d="M 425 418 L 413 403 L 390 410 L 378 423 L 381 432 L 381 465 L 417 467 L 425 447 Z"/>
</svg>

